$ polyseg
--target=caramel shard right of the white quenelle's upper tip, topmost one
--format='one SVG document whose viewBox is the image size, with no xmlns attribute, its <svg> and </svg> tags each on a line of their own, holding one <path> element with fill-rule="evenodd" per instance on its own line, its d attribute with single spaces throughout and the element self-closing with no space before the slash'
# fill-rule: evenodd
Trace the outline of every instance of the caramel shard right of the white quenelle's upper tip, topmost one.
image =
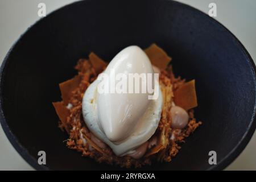
<svg viewBox="0 0 256 182">
<path fill-rule="evenodd" d="M 168 63 L 171 61 L 171 57 L 169 57 L 162 48 L 156 46 L 156 44 L 152 44 L 144 51 L 150 59 L 151 63 L 160 69 L 166 69 Z"/>
</svg>

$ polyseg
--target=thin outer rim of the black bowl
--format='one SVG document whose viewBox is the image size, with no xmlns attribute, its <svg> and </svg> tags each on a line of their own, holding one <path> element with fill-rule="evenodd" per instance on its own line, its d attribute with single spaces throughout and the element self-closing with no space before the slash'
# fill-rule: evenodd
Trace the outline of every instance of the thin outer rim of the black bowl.
<svg viewBox="0 0 256 182">
<path fill-rule="evenodd" d="M 38 161 L 34 158 L 34 156 L 30 155 L 30 153 L 28 152 L 26 147 L 24 147 L 22 144 L 19 143 L 18 138 L 16 138 L 13 131 L 10 130 L 10 127 L 7 124 L 6 119 L 5 119 L 5 114 L 3 112 L 3 108 L 2 108 L 2 82 L 3 82 L 3 79 L 2 78 L 3 78 L 3 75 L 5 75 L 6 63 L 9 59 L 11 52 L 13 52 L 14 47 L 19 43 L 20 39 L 22 39 L 23 36 L 25 34 L 27 34 L 28 31 L 31 30 L 32 27 L 36 26 L 38 23 L 42 22 L 42 20 L 46 19 L 47 17 L 54 15 L 59 10 L 65 9 L 69 6 L 73 6 L 77 3 L 88 2 L 88 1 L 92 1 L 92 0 L 80 0 L 80 1 L 69 3 L 67 5 L 61 6 L 58 9 L 52 11 L 46 17 L 36 20 L 36 22 L 32 23 L 31 26 L 29 26 L 27 28 L 27 30 L 24 31 L 23 34 L 20 35 L 19 38 L 14 42 L 13 46 L 11 46 L 11 48 L 7 52 L 5 58 L 3 59 L 3 62 L 1 64 L 1 68 L 0 68 L 0 123 L 2 125 L 3 131 L 5 132 L 7 138 L 9 139 L 10 143 L 13 145 L 15 150 L 19 153 L 20 156 L 22 156 L 22 158 L 28 164 L 30 164 L 31 167 L 33 167 L 36 170 L 51 170 L 51 169 L 47 166 L 39 165 Z M 161 0 L 161 1 L 176 3 L 176 5 L 183 6 L 191 11 L 196 11 L 201 16 L 207 16 L 217 26 L 224 28 L 224 30 L 227 31 L 229 36 L 234 40 L 234 44 L 237 44 L 237 46 L 242 49 L 243 53 L 247 57 L 247 60 L 249 60 L 249 63 L 251 64 L 251 69 L 253 70 L 253 73 L 254 73 L 254 86 L 255 86 L 255 90 L 256 90 L 256 67 L 255 67 L 254 61 L 251 58 L 249 52 L 246 50 L 246 48 L 240 42 L 240 40 L 238 40 L 236 38 L 236 36 L 231 31 L 228 30 L 228 28 L 226 28 L 222 23 L 218 22 L 216 19 L 210 17 L 209 15 L 205 14 L 203 11 L 201 11 L 195 7 L 192 7 L 185 3 L 177 2 L 174 0 Z M 249 143 L 251 137 L 253 136 L 255 129 L 256 129 L 256 98 L 255 98 L 255 106 L 254 106 L 253 115 L 252 115 L 252 118 L 250 121 L 250 125 L 247 128 L 246 132 L 243 134 L 243 137 L 240 139 L 240 142 L 237 143 L 236 147 L 234 147 L 233 150 L 231 150 L 228 153 L 228 155 L 226 155 L 224 158 L 222 158 L 216 165 L 209 167 L 207 170 L 222 170 L 222 169 L 226 168 L 227 166 L 229 166 L 229 164 L 231 164 L 237 158 L 237 156 L 240 155 L 241 152 L 245 149 L 245 147 Z"/>
</svg>

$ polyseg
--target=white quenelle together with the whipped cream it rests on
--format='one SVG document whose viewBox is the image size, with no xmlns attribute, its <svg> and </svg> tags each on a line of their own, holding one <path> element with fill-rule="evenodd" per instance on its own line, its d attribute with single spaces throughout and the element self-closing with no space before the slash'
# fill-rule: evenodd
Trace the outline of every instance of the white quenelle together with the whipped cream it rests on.
<svg viewBox="0 0 256 182">
<path fill-rule="evenodd" d="M 130 73 L 154 73 L 150 60 L 138 46 L 123 49 L 109 63 L 104 71 L 109 77 L 104 82 L 110 87 L 114 79 L 111 76 L 112 71 L 127 76 Z M 158 84 L 157 81 L 155 83 Z M 97 79 L 84 94 L 82 100 L 84 121 L 89 130 L 108 144 L 116 155 L 126 155 L 155 133 L 162 112 L 162 93 L 158 86 L 157 99 L 148 100 L 148 95 L 152 93 L 147 91 L 100 93 L 97 90 L 99 84 L 102 84 L 102 81 Z M 142 88 L 148 84 L 148 80 L 141 81 L 140 84 Z"/>
</svg>

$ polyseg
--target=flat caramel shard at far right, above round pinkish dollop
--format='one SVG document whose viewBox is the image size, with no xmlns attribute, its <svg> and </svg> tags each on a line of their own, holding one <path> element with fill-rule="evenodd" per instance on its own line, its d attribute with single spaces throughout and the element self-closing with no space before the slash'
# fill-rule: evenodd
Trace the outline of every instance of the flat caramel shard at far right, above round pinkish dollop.
<svg viewBox="0 0 256 182">
<path fill-rule="evenodd" d="M 195 80 L 186 82 L 174 91 L 174 102 L 185 110 L 197 106 Z"/>
</svg>

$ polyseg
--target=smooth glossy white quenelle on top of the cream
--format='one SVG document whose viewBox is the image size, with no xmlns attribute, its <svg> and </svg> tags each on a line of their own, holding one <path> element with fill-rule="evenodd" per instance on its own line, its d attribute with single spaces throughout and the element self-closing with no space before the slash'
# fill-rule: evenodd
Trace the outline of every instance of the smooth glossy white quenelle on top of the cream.
<svg viewBox="0 0 256 182">
<path fill-rule="evenodd" d="M 109 88 L 113 71 L 115 75 L 124 73 L 127 77 L 129 73 L 154 73 L 147 55 L 137 46 L 123 49 L 109 63 L 104 72 L 109 78 L 103 81 Z M 147 86 L 147 81 L 141 84 Z M 148 93 L 98 93 L 99 125 L 110 141 L 120 142 L 131 135 L 149 104 Z"/>
</svg>

